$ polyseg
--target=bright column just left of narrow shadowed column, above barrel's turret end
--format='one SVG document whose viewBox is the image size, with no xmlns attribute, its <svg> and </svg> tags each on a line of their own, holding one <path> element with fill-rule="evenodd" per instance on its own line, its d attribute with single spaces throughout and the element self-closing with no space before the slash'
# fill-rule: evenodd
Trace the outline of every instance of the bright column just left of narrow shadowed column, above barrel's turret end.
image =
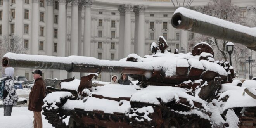
<svg viewBox="0 0 256 128">
<path fill-rule="evenodd" d="M 124 38 L 124 56 L 131 54 L 131 12 L 133 6 L 125 5 L 125 38 Z"/>
</svg>

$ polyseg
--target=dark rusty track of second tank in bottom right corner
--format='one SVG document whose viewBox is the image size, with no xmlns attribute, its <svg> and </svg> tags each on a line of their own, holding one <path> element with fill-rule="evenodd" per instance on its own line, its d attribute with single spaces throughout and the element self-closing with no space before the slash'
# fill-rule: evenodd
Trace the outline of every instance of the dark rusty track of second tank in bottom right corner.
<svg viewBox="0 0 256 128">
<path fill-rule="evenodd" d="M 238 125 L 239 128 L 256 128 L 256 107 L 244 107 Z"/>
</svg>

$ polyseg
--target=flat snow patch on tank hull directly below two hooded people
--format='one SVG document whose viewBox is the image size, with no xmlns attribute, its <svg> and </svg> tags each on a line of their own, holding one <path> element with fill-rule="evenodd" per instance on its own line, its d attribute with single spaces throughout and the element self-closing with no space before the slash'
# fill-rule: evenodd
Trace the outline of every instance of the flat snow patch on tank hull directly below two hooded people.
<svg viewBox="0 0 256 128">
<path fill-rule="evenodd" d="M 92 95 L 102 95 L 104 97 L 119 98 L 131 97 L 133 93 L 137 92 L 132 85 L 108 84 L 104 86 L 97 86 L 92 89 Z"/>
</svg>

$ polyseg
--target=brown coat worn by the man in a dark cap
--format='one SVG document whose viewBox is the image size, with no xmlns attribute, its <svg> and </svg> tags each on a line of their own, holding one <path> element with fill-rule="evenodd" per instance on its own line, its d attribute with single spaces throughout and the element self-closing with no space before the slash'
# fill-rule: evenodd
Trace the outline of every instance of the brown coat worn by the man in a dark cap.
<svg viewBox="0 0 256 128">
<path fill-rule="evenodd" d="M 35 80 L 35 84 L 29 94 L 28 110 L 41 112 L 44 98 L 45 82 L 43 78 L 38 78 Z"/>
</svg>

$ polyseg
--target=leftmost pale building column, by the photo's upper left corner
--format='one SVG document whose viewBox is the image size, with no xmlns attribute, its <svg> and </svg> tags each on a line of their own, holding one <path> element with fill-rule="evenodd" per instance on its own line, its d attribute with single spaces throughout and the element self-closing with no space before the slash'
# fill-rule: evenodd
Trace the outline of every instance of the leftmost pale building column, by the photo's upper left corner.
<svg viewBox="0 0 256 128">
<path fill-rule="evenodd" d="M 2 41 L 9 37 L 9 0 L 3 0 Z"/>
</svg>

